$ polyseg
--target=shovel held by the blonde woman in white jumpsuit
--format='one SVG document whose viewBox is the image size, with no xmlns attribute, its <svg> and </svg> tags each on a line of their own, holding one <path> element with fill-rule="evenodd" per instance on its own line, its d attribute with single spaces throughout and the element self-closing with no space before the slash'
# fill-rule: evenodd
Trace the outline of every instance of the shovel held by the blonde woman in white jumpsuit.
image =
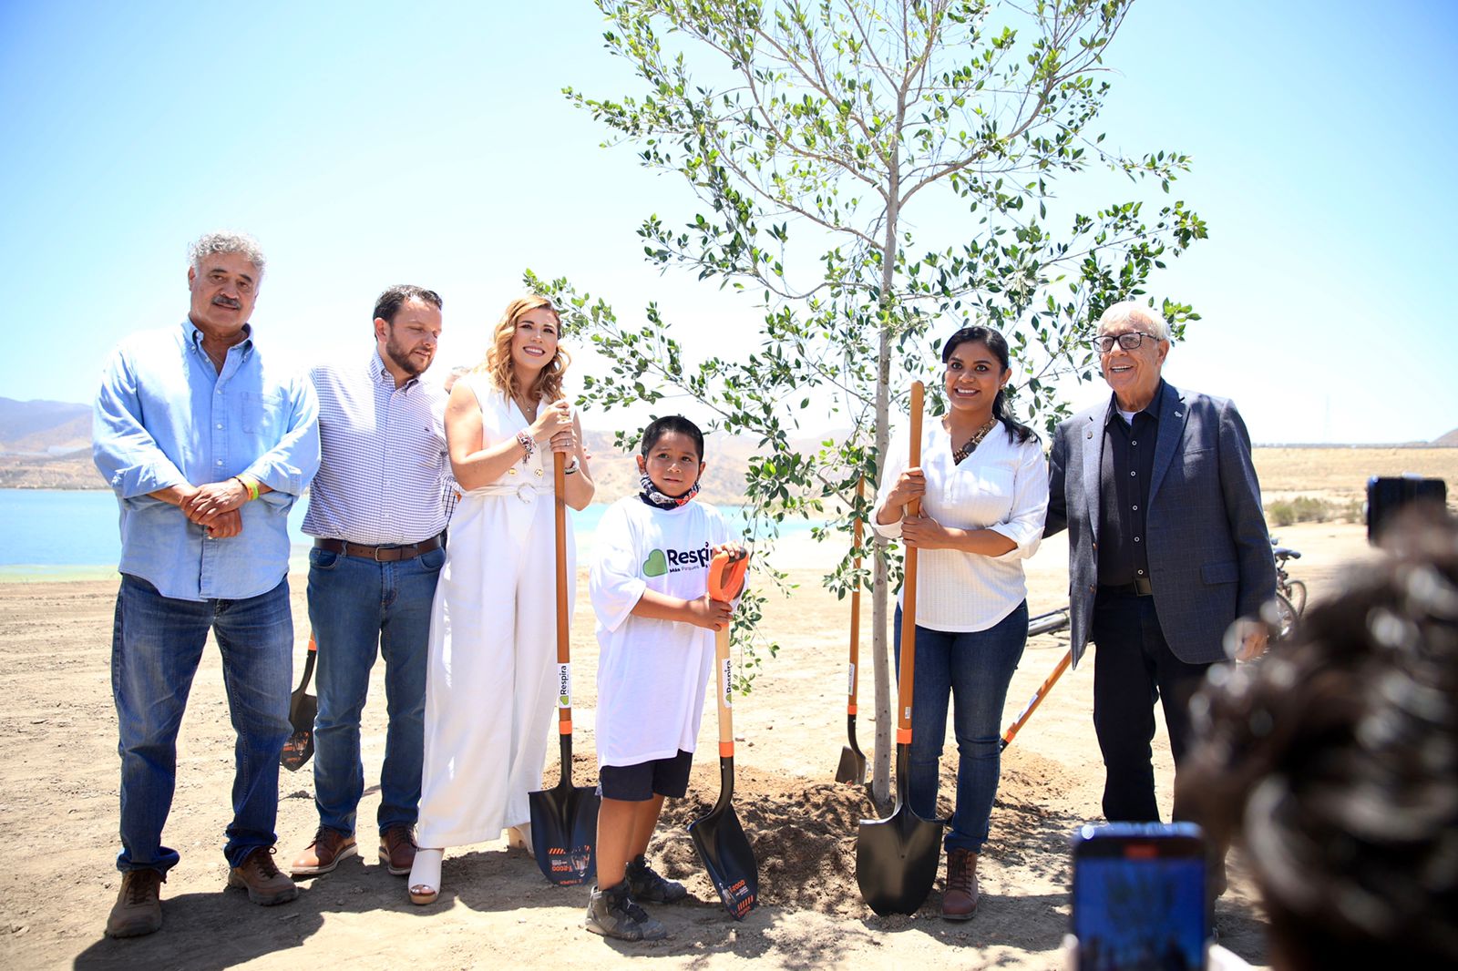
<svg viewBox="0 0 1458 971">
<path fill-rule="evenodd" d="M 572 660 L 567 636 L 567 500 L 566 456 L 553 452 L 557 502 L 557 738 L 561 742 L 561 779 L 553 789 L 526 793 L 532 811 L 532 851 L 537 866 L 558 886 L 590 884 L 596 875 L 592 853 L 598 838 L 595 786 L 572 784 Z"/>
</svg>

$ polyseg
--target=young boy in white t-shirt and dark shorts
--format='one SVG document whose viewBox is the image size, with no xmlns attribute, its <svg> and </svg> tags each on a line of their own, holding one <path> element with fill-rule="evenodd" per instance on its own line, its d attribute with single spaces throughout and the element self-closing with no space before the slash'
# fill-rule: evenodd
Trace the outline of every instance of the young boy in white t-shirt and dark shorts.
<svg viewBox="0 0 1458 971">
<path fill-rule="evenodd" d="M 643 491 L 612 504 L 598 525 L 589 590 L 598 615 L 598 886 L 588 930 L 658 940 L 668 930 L 639 901 L 674 902 L 644 853 L 663 798 L 688 790 L 714 631 L 733 605 L 709 598 L 709 563 L 726 548 L 723 516 L 691 502 L 704 471 L 704 434 L 668 416 L 643 430 Z M 601 888 L 601 889 L 599 889 Z"/>
</svg>

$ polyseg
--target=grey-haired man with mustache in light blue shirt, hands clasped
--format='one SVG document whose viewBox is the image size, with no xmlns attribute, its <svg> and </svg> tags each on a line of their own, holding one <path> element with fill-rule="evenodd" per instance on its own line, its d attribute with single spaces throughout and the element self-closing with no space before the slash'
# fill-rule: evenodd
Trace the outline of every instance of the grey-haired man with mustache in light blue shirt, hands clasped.
<svg viewBox="0 0 1458 971">
<path fill-rule="evenodd" d="M 114 937 L 162 926 L 160 882 L 179 859 L 162 846 L 176 735 L 210 630 L 238 730 L 227 884 L 258 904 L 297 897 L 273 844 L 278 751 L 290 732 L 287 519 L 319 465 L 318 404 L 303 373 L 254 341 L 258 243 L 211 233 L 191 258 L 188 319 L 122 341 L 102 372 L 92 432 L 96 468 L 121 507 L 112 691 L 122 885 L 106 921 Z"/>
</svg>

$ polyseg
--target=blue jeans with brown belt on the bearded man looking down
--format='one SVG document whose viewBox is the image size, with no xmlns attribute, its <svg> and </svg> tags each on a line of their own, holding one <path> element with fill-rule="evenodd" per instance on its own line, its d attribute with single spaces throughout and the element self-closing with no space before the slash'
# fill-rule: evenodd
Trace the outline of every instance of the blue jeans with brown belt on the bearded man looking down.
<svg viewBox="0 0 1458 971">
<path fill-rule="evenodd" d="M 375 563 L 315 547 L 309 551 L 309 623 L 319 649 L 319 714 L 313 720 L 313 803 L 319 825 L 354 832 L 364 793 L 360 713 L 375 656 L 385 658 L 385 765 L 379 830 L 414 825 L 424 758 L 426 658 L 430 605 L 445 548 Z"/>
</svg>

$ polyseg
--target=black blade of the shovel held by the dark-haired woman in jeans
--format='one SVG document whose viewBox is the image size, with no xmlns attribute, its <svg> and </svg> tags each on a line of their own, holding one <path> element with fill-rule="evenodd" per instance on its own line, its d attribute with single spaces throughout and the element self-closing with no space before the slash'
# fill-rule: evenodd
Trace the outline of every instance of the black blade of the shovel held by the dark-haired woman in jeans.
<svg viewBox="0 0 1458 971">
<path fill-rule="evenodd" d="M 856 884 L 870 910 L 914 914 L 942 862 L 940 819 L 923 819 L 905 800 L 905 745 L 897 746 L 897 808 L 886 819 L 862 819 L 856 832 Z"/>
</svg>

